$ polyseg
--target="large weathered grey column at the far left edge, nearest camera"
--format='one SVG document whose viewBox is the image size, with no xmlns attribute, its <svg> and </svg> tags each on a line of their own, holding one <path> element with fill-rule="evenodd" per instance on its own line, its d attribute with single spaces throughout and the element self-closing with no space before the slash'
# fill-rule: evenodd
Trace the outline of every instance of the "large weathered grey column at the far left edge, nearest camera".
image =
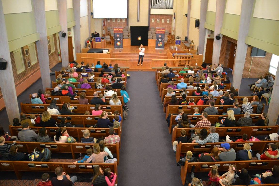
<svg viewBox="0 0 279 186">
<path fill-rule="evenodd" d="M 20 114 L 16 97 L 15 80 L 13 76 L 13 68 L 9 51 L 9 43 L 2 1 L 0 1 L 0 23 L 0 58 L 3 58 L 7 61 L 6 70 L 0 70 L 0 76 L 2 77 L 2 81 L 0 81 L 0 87 L 4 98 L 9 122 L 12 124 L 14 118 L 20 119 Z M 9 81 L 5 81 L 5 79 L 8 79 Z"/>
</svg>

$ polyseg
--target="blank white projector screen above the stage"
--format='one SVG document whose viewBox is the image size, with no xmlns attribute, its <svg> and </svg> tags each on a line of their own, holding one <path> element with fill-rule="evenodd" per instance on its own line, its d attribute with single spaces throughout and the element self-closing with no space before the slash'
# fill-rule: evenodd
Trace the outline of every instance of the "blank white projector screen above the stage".
<svg viewBox="0 0 279 186">
<path fill-rule="evenodd" d="M 127 0 L 93 0 L 93 18 L 127 18 Z"/>
</svg>

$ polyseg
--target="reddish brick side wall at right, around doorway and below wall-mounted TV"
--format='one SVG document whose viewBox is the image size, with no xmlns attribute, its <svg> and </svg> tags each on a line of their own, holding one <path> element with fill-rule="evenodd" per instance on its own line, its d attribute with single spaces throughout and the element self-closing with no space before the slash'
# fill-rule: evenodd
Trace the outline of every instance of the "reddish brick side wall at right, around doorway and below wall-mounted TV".
<svg viewBox="0 0 279 186">
<path fill-rule="evenodd" d="M 227 67 L 228 65 L 230 46 L 232 43 L 237 44 L 237 40 L 223 35 L 219 63 L 224 64 L 224 67 Z M 252 57 L 250 56 L 251 51 L 252 51 L 252 46 L 249 46 L 246 53 L 242 78 L 259 78 L 259 76 L 263 76 L 266 73 L 268 73 L 272 54 L 266 52 L 265 57 L 253 57 L 251 71 L 249 74 L 249 69 L 252 60 Z M 234 74 L 234 68 L 232 74 Z"/>
</svg>

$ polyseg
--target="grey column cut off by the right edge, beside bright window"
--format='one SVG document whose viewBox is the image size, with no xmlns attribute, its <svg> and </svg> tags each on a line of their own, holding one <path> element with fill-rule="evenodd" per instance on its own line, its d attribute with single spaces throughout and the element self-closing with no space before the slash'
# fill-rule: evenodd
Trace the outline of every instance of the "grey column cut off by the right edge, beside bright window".
<svg viewBox="0 0 279 186">
<path fill-rule="evenodd" d="M 269 126 L 274 126 L 276 125 L 277 119 L 278 119 L 278 115 L 279 115 L 279 62 L 278 62 L 278 66 L 277 66 L 277 71 L 276 71 L 276 75 L 275 76 L 275 80 L 274 80 L 274 84 L 273 84 L 273 90 L 271 93 L 271 101 L 268 107 L 268 112 L 267 112 L 267 117 L 269 119 Z"/>
</svg>

